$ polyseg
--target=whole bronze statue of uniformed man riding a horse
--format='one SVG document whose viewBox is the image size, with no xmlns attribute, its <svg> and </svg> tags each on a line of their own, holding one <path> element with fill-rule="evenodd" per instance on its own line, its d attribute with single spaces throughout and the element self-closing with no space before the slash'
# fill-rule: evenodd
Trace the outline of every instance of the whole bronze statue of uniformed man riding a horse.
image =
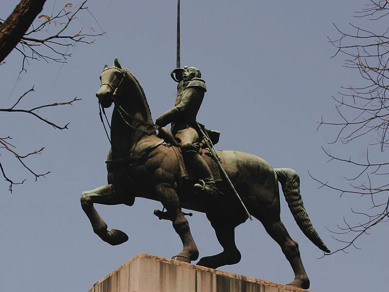
<svg viewBox="0 0 389 292">
<path fill-rule="evenodd" d="M 329 253 L 330 250 L 304 208 L 299 175 L 290 168 L 273 168 L 252 154 L 214 150 L 217 135 L 196 122 L 206 92 L 200 71 L 185 67 L 175 73 L 180 76 L 176 80 L 179 83 L 175 106 L 154 124 L 137 78 L 117 58 L 114 65 L 104 67 L 96 96 L 103 111 L 114 105 L 111 148 L 106 159 L 108 184 L 81 195 L 81 206 L 94 233 L 111 245 L 128 240 L 123 231 L 107 229 L 94 203 L 132 206 L 135 197 L 159 201 L 166 211 L 155 210 L 154 214 L 172 221 L 183 245 L 182 251 L 173 258 L 190 263 L 198 258 L 199 252 L 184 217 L 188 214 L 181 208 L 203 212 L 223 252 L 202 257 L 196 264 L 216 269 L 240 261 L 234 230 L 252 215 L 262 222 L 289 261 L 294 279 L 288 285 L 308 289 L 309 278 L 298 243 L 289 236 L 280 219 L 278 183 L 304 235 L 322 251 Z M 172 132 L 163 127 L 169 123 Z"/>
</svg>

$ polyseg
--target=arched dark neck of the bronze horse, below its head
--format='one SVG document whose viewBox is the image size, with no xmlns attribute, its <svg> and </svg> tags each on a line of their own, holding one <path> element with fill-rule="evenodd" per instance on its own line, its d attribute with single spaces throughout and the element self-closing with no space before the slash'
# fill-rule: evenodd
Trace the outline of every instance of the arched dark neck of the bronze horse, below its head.
<svg viewBox="0 0 389 292">
<path fill-rule="evenodd" d="M 136 155 L 158 139 L 155 134 L 147 133 L 152 129 L 152 120 L 139 86 L 126 82 L 122 94 L 120 108 L 115 105 L 111 119 L 112 155 L 117 156 L 114 159 Z"/>
</svg>

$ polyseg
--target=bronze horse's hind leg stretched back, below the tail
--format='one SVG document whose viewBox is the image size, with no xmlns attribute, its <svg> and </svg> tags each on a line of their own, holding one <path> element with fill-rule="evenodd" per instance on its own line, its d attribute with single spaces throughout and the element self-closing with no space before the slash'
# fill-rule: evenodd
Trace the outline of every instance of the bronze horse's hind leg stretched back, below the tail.
<svg viewBox="0 0 389 292">
<path fill-rule="evenodd" d="M 267 233 L 280 245 L 283 254 L 292 266 L 295 278 L 288 285 L 308 289 L 309 278 L 305 272 L 304 266 L 302 265 L 298 243 L 289 236 L 279 217 L 277 219 L 261 219 L 261 222 L 263 223 Z"/>
</svg>

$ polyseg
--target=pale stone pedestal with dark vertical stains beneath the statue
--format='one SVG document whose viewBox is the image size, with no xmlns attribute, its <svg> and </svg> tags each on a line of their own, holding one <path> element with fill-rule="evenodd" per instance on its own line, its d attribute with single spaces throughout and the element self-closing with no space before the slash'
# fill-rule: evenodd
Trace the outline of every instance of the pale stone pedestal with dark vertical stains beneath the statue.
<svg viewBox="0 0 389 292">
<path fill-rule="evenodd" d="M 252 277 L 139 254 L 88 292 L 307 292 Z"/>
</svg>

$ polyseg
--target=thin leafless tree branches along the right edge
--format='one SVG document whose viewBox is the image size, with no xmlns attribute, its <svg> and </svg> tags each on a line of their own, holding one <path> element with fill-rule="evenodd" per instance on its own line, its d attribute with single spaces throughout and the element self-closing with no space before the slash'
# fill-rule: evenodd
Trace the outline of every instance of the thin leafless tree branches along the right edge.
<svg viewBox="0 0 389 292">
<path fill-rule="evenodd" d="M 389 184 L 385 179 L 389 176 L 389 160 L 386 160 L 382 153 L 389 146 L 389 29 L 385 22 L 389 15 L 388 2 L 369 0 L 365 8 L 355 16 L 368 20 L 369 23 L 365 23 L 365 26 L 374 21 L 381 21 L 379 23 L 384 25 L 378 26 L 382 29 L 381 32 L 350 24 L 352 32 L 349 33 L 334 24 L 340 37 L 329 38 L 330 43 L 336 48 L 334 56 L 345 55 L 347 59 L 344 66 L 357 70 L 361 79 L 358 81 L 359 86 L 345 87 L 339 92 L 339 98 L 334 97 L 340 120 L 326 121 L 321 117 L 320 120 L 316 120 L 318 128 L 321 126 L 338 128 L 336 138 L 331 143 L 349 144 L 362 138 L 371 142 L 365 161 L 336 156 L 323 148 L 329 161 L 350 164 L 356 170 L 354 176 L 345 178 L 350 182 L 348 186 L 334 186 L 311 176 L 320 187 L 336 190 L 340 192 L 340 196 L 350 194 L 371 198 L 368 212 L 352 210 L 355 217 L 362 218 L 362 223 L 349 224 L 344 219 L 344 226 L 338 226 L 340 232 L 331 231 L 336 234 L 334 236 L 336 240 L 344 243 L 343 247 L 331 254 L 345 252 L 351 246 L 356 247 L 355 242 L 359 237 L 368 234 L 372 227 L 389 219 Z M 349 235 L 350 239 L 344 239 Z"/>
</svg>

